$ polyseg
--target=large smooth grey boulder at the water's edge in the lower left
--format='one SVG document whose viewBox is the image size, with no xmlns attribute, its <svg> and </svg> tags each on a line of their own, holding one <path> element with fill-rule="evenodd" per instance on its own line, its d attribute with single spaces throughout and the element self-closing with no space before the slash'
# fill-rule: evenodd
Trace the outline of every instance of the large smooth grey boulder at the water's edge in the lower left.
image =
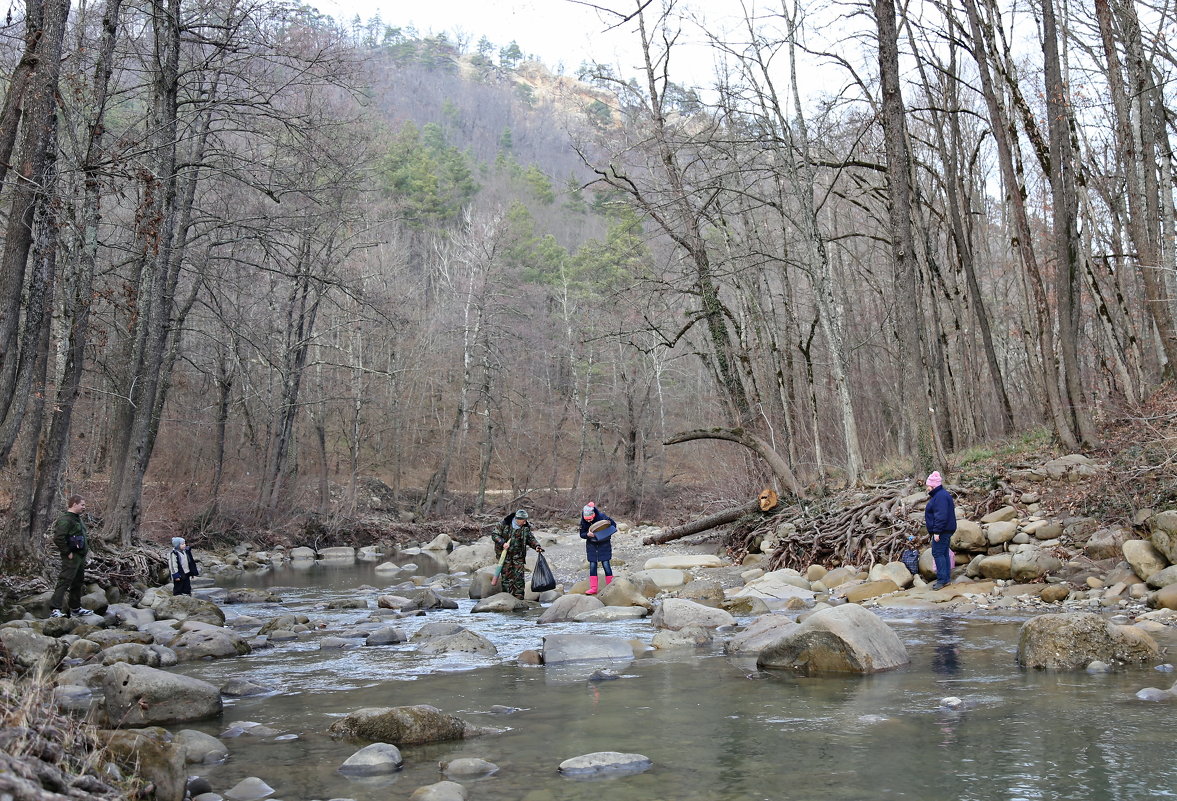
<svg viewBox="0 0 1177 801">
<path fill-rule="evenodd" d="M 221 713 L 220 690 L 207 681 L 145 665 L 112 665 L 102 676 L 107 719 L 122 726 L 180 723 Z"/>
</svg>

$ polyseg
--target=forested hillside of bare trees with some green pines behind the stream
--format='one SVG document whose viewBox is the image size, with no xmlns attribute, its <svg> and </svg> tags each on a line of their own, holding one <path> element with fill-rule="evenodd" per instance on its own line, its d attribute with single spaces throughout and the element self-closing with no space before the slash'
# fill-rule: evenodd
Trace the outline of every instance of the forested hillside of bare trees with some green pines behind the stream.
<svg viewBox="0 0 1177 801">
<path fill-rule="evenodd" d="M 619 8 L 645 71 L 572 78 L 278 0 L 28 0 L 0 562 L 72 492 L 124 543 L 343 525 L 373 480 L 425 515 L 803 494 L 1095 447 L 1168 375 L 1170 9 L 785 4 L 687 86 L 690 8 Z"/>
</svg>

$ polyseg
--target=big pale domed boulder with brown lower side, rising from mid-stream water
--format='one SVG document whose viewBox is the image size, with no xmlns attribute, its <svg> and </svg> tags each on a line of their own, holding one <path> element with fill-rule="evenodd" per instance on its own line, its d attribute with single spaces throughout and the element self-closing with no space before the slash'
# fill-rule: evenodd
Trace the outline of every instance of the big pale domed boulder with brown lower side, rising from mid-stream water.
<svg viewBox="0 0 1177 801">
<path fill-rule="evenodd" d="M 911 661 L 899 636 L 872 612 L 846 603 L 814 612 L 784 630 L 757 658 L 757 667 L 805 674 L 879 673 Z"/>
</svg>

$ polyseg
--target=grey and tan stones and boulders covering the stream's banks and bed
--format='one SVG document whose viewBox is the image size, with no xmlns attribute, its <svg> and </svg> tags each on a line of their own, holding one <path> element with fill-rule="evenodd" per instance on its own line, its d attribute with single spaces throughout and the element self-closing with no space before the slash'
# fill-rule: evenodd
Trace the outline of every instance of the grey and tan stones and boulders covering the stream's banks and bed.
<svg viewBox="0 0 1177 801">
<path fill-rule="evenodd" d="M 1069 467 L 1048 465 L 1040 475 L 1031 472 L 1024 480 L 1073 481 L 1070 476 L 1099 469 L 1083 460 L 1062 463 Z M 1052 478 L 1052 472 L 1058 476 Z M 918 516 L 925 500 L 923 493 L 912 493 L 903 499 L 904 508 Z M 767 553 L 746 554 L 737 563 L 707 538 L 670 547 L 643 546 L 658 529 L 623 522 L 614 538 L 617 579 L 597 595 L 586 594 L 583 541 L 574 530 L 552 527 L 541 528 L 538 535 L 560 585 L 547 593 L 528 593 L 521 601 L 492 586 L 494 558 L 487 539 L 459 545 L 445 534 L 395 550 L 379 546 L 259 550 L 241 543 L 228 553 L 202 555 L 197 598 L 173 598 L 166 586 L 131 598 L 111 587 L 91 586 L 84 605 L 93 614 L 74 619 L 45 619 L 45 595 L 27 596 L 11 607 L 16 619 L 0 626 L 11 672 L 48 676 L 47 719 L 67 715 L 97 728 L 85 737 L 59 737 L 56 750 L 52 737 L 44 735 L 39 736 L 49 746 L 8 749 L 21 761 L 8 766 L 12 776 L 21 776 L 26 785 L 41 781 L 39 788 L 28 785 L 21 790 L 25 795 L 14 797 L 42 801 L 62 788 L 68 797 L 112 797 L 124 774 L 106 766 L 125 765 L 127 759 L 138 760 L 138 775 L 151 795 L 164 801 L 181 801 L 186 795 L 199 801 L 257 801 L 273 795 L 265 776 L 213 788 L 200 779 L 189 782 L 187 774 L 224 760 L 228 754 L 225 736 L 286 736 L 281 732 L 248 721 L 230 726 L 222 737 L 179 727 L 221 715 L 226 697 L 264 696 L 274 688 L 240 679 L 212 683 L 168 668 L 234 660 L 281 649 L 284 643 L 313 642 L 322 650 L 383 647 L 466 654 L 550 667 L 601 660 L 601 681 L 616 676 L 606 660 L 630 660 L 651 649 L 718 647 L 754 659 L 764 670 L 867 674 L 906 665 L 904 643 L 875 614 L 904 609 L 1031 618 L 1017 646 L 1016 663 L 1024 667 L 1089 672 L 1125 665 L 1164 667 L 1165 648 L 1177 641 L 1177 510 L 1150 510 L 1136 525 L 1105 527 L 1088 518 L 1048 514 L 1029 487 L 1011 490 L 1006 500 L 977 520 L 962 518 L 952 539 L 958 567 L 953 582 L 943 589 L 931 587 L 930 552 L 922 554 L 916 575 L 900 562 L 766 570 L 776 547 L 772 540 L 762 545 Z M 777 534 L 784 538 L 789 530 Z M 534 554 L 528 561 L 534 561 Z M 338 616 L 313 610 L 267 616 L 259 610 L 280 601 L 280 592 L 219 586 L 317 562 L 368 562 L 383 586 L 360 587 L 332 602 L 331 609 L 324 608 L 333 614 L 354 609 L 354 618 L 343 626 Z M 458 599 L 477 601 L 468 621 L 426 623 L 412 636 L 398 626 L 408 618 L 454 609 Z M 239 605 L 248 605 L 248 613 L 235 612 Z M 520 613 L 539 615 L 536 646 L 500 656 L 480 633 L 480 621 L 487 620 L 484 615 Z M 647 621 L 643 630 L 652 636 L 596 633 L 600 625 L 617 621 Z M 543 625 L 547 623 L 583 628 L 545 636 Z M 1011 669 L 1016 669 L 1012 659 Z M 9 680 L 5 697 L 26 694 L 19 688 L 32 686 Z M 1139 697 L 1173 701 L 1177 694 L 1172 688 L 1144 687 Z M 334 736 L 370 743 L 340 770 L 372 775 L 400 769 L 401 747 L 494 730 L 420 705 L 357 710 L 331 727 Z M 41 740 L 28 737 L 34 743 Z M 73 754 L 71 759 L 91 767 L 77 779 L 64 780 L 27 761 L 44 761 L 44 754 L 54 753 Z M 612 759 L 586 754 L 581 761 L 594 770 L 609 770 Z M 618 754 L 614 767 L 630 769 L 644 765 L 643 760 L 640 754 Z M 463 781 L 494 769 L 490 762 L 450 766 L 445 781 L 423 787 L 414 797 L 461 797 Z M 580 768 L 568 768 L 576 769 Z"/>
</svg>

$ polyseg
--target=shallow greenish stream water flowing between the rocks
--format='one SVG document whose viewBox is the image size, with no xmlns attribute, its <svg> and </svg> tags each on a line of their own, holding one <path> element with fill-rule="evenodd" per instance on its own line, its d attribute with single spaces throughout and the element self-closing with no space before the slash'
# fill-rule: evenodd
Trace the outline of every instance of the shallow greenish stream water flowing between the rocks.
<svg viewBox="0 0 1177 801">
<path fill-rule="evenodd" d="M 226 607 L 231 615 L 304 613 L 331 621 L 334 633 L 368 613 L 327 612 L 322 603 L 365 596 L 358 587 L 384 586 L 387 578 L 364 563 L 315 565 L 242 583 L 272 586 L 282 603 Z M 221 720 L 175 727 L 218 735 L 234 721 L 257 721 L 281 733 L 228 739 L 228 761 L 192 769 L 220 792 L 259 776 L 285 801 L 407 799 L 445 779 L 439 761 L 459 756 L 499 766 L 492 776 L 463 781 L 471 801 L 1177 797 L 1177 705 L 1135 699 L 1142 687 L 1168 688 L 1173 674 L 1020 670 L 1013 652 L 1024 618 L 884 610 L 912 661 L 873 676 L 760 673 L 754 660 L 714 648 L 654 652 L 610 665 L 618 680 L 588 681 L 603 663 L 520 667 L 514 658 L 552 633 L 591 630 L 649 642 L 650 623 L 539 627 L 539 612 L 472 615 L 473 601 L 459 602 L 457 610 L 390 622 L 411 635 L 425 622 L 455 620 L 494 642 L 498 656 L 425 656 L 411 642 L 320 650 L 315 638 L 182 666 L 218 685 L 247 677 L 280 689 L 226 699 Z M 946 696 L 963 699 L 964 707 L 942 708 Z M 506 730 L 404 747 L 405 767 L 391 776 L 337 772 L 363 743 L 333 741 L 326 734 L 332 721 L 361 707 L 413 703 Z M 491 714 L 493 705 L 518 710 Z M 598 780 L 557 773 L 563 760 L 599 750 L 640 753 L 653 767 Z"/>
</svg>

